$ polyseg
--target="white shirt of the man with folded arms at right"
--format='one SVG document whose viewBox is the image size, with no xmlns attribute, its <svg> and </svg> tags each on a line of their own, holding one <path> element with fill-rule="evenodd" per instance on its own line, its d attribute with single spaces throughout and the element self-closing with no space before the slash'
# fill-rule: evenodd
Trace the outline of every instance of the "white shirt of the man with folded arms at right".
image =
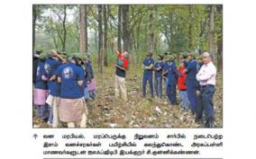
<svg viewBox="0 0 256 159">
<path fill-rule="evenodd" d="M 207 85 L 216 83 L 216 67 L 211 61 L 208 64 L 203 65 L 197 73 L 197 81 L 200 85 Z"/>
</svg>

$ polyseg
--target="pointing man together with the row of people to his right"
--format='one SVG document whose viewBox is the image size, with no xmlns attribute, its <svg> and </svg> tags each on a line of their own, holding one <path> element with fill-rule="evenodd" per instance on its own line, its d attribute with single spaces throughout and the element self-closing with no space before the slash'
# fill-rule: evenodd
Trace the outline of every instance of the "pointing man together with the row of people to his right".
<svg viewBox="0 0 256 159">
<path fill-rule="evenodd" d="M 115 64 L 115 97 L 120 96 L 127 102 L 125 86 L 125 70 L 129 63 L 129 53 L 120 52 L 114 45 L 117 54 Z M 156 94 L 162 99 L 162 85 L 171 105 L 177 105 L 177 85 L 183 110 L 191 110 L 196 115 L 196 122 L 203 124 L 205 112 L 205 127 L 214 127 L 214 102 L 216 69 L 210 53 L 204 52 L 197 59 L 191 53 L 180 54 L 180 64 L 177 68 L 175 56 L 171 54 L 158 55 L 158 61 L 148 52 L 142 63 L 142 97 L 146 97 L 147 84 L 150 87 L 151 99 Z M 154 72 L 154 78 L 153 78 Z M 153 84 L 154 79 L 154 84 Z M 155 93 L 154 93 L 155 92 Z"/>
</svg>

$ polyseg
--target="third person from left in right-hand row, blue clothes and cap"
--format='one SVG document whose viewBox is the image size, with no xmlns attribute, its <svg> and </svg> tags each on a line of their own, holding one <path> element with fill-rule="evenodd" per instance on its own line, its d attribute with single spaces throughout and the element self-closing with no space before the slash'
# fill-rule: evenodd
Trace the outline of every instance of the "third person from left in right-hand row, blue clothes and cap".
<svg viewBox="0 0 256 159">
<path fill-rule="evenodd" d="M 167 75 L 167 88 L 166 94 L 168 96 L 169 102 L 172 105 L 177 104 L 177 93 L 176 93 L 176 86 L 177 86 L 177 79 L 178 79 L 178 71 L 177 66 L 174 62 L 174 57 L 169 55 L 167 57 L 166 65 L 164 66 L 164 71 L 162 75 Z"/>
</svg>

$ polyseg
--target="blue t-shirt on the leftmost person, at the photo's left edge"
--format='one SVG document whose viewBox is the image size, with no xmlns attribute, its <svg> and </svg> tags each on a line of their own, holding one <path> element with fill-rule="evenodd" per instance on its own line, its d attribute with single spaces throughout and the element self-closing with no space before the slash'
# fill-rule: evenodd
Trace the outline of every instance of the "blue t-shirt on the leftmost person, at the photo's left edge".
<svg viewBox="0 0 256 159">
<path fill-rule="evenodd" d="M 36 80 L 35 80 L 35 88 L 39 88 L 42 90 L 47 90 L 47 82 L 41 79 L 41 76 L 44 74 L 43 71 L 43 62 L 39 62 L 36 69 Z"/>
</svg>

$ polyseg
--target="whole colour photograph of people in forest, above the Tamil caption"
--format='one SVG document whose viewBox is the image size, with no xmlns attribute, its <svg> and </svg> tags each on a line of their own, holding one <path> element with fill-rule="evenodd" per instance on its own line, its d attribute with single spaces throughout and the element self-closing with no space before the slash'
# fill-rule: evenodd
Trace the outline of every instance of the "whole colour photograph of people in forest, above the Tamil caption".
<svg viewBox="0 0 256 159">
<path fill-rule="evenodd" d="M 223 4 L 31 9 L 32 128 L 223 128 Z"/>
</svg>

